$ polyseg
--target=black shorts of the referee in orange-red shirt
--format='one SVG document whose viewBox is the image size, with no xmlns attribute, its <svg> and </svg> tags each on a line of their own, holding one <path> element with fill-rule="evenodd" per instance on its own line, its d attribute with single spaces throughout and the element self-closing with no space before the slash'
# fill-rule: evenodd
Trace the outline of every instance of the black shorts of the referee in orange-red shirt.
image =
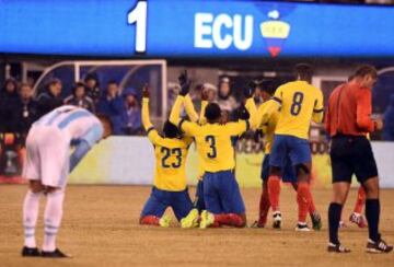
<svg viewBox="0 0 394 267">
<path fill-rule="evenodd" d="M 329 156 L 333 183 L 351 183 L 354 174 L 361 184 L 371 177 L 378 176 L 378 167 L 371 143 L 366 137 L 334 137 Z"/>
</svg>

